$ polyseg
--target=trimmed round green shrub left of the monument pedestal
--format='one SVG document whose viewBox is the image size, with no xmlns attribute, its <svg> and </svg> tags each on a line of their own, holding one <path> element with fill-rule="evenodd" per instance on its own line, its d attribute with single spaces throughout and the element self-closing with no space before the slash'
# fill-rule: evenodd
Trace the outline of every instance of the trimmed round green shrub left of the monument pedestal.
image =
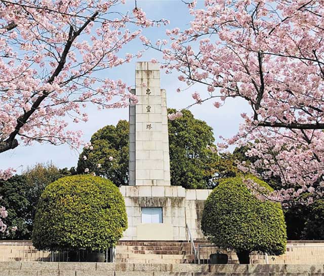
<svg viewBox="0 0 324 276">
<path fill-rule="evenodd" d="M 67 176 L 47 186 L 39 199 L 32 242 L 38 250 L 102 251 L 126 228 L 125 201 L 110 180 Z"/>
</svg>

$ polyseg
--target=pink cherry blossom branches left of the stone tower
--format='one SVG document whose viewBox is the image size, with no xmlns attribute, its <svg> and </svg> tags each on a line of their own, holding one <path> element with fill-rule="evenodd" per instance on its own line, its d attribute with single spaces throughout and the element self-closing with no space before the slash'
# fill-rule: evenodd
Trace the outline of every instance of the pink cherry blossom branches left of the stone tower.
<svg viewBox="0 0 324 276">
<path fill-rule="evenodd" d="M 81 132 L 71 131 L 68 122 L 87 121 L 88 104 L 121 108 L 133 99 L 122 80 L 98 72 L 141 56 L 119 52 L 142 28 L 168 22 L 151 21 L 136 6 L 123 13 L 123 4 L 0 1 L 0 153 L 34 141 L 76 148 Z M 7 179 L 12 172 L 2 170 L 0 176 Z M 0 209 L 2 231 L 5 216 Z"/>
</svg>

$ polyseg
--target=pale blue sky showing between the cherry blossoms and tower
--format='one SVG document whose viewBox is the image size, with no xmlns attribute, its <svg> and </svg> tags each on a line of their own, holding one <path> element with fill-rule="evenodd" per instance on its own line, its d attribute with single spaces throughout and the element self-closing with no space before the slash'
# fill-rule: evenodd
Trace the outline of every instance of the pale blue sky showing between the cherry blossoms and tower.
<svg viewBox="0 0 324 276">
<path fill-rule="evenodd" d="M 125 10 L 132 10 L 134 3 L 134 0 L 127 0 Z M 188 14 L 186 5 L 181 0 L 137 0 L 137 6 L 142 8 L 150 19 L 164 18 L 170 20 L 170 25 L 167 27 L 149 28 L 144 31 L 143 34 L 150 38 L 151 41 L 167 38 L 165 35 L 167 28 L 180 27 L 184 29 L 189 26 L 191 17 Z M 203 7 L 203 1 L 198 0 L 198 6 Z M 124 53 L 136 53 L 142 48 L 141 42 L 137 40 L 127 45 L 121 55 Z M 134 85 L 136 61 L 149 61 L 152 58 L 161 60 L 158 52 L 148 50 L 139 60 L 133 60 L 131 63 L 102 72 L 102 74 L 112 79 L 123 79 L 128 85 Z M 185 108 L 193 102 L 191 94 L 194 91 L 201 92 L 201 95 L 204 95 L 206 90 L 204 86 L 194 86 L 182 93 L 177 93 L 177 87 L 181 87 L 177 77 L 176 73 L 166 75 L 161 71 L 161 88 L 167 90 L 168 107 Z M 182 87 L 184 88 L 184 86 Z M 116 124 L 120 119 L 128 119 L 128 108 L 98 111 L 96 107 L 89 107 L 86 111 L 89 115 L 88 122 L 69 125 L 69 129 L 81 129 L 84 132 L 83 140 L 86 142 L 99 128 L 107 124 Z M 219 141 L 219 135 L 230 137 L 237 132 L 239 123 L 242 121 L 240 113 L 249 112 L 249 108 L 246 102 L 234 99 L 227 101 L 226 105 L 220 109 L 216 109 L 213 102 L 207 102 L 203 105 L 194 106 L 191 108 L 191 112 L 196 118 L 206 121 L 213 127 L 215 138 Z M 81 150 L 79 149 L 79 151 Z M 25 147 L 21 145 L 14 150 L 3 153 L 0 160 L 0 169 L 13 167 L 17 169 L 17 173 L 20 173 L 28 166 L 49 161 L 52 161 L 60 168 L 71 167 L 76 166 L 77 159 L 78 152 L 70 150 L 66 145 L 53 146 L 34 143 L 32 146 Z"/>
</svg>

